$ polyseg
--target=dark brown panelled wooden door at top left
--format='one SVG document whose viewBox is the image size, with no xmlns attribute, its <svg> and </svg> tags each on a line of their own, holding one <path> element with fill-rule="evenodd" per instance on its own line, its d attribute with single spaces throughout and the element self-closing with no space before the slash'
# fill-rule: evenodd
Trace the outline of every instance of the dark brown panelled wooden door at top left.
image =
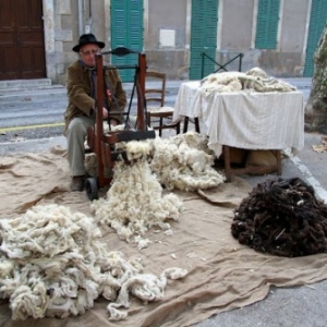
<svg viewBox="0 0 327 327">
<path fill-rule="evenodd" d="M 41 0 L 0 1 L 0 80 L 46 77 Z"/>
</svg>

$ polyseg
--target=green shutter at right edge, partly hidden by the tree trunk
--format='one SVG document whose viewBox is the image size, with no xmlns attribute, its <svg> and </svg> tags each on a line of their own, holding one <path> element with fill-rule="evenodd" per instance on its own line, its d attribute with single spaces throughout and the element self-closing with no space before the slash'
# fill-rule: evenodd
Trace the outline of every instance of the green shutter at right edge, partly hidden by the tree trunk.
<svg viewBox="0 0 327 327">
<path fill-rule="evenodd" d="M 327 20 L 327 0 L 312 0 L 311 17 L 307 34 L 306 55 L 303 76 L 312 77 L 314 73 L 314 53 Z"/>
</svg>

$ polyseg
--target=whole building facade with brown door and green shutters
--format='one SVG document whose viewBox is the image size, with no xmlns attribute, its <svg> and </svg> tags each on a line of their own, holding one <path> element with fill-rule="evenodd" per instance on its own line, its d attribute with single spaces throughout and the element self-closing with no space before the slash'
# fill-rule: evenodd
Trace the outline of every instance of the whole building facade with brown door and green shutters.
<svg viewBox="0 0 327 327">
<path fill-rule="evenodd" d="M 1 0 L 0 80 L 64 84 L 83 33 L 144 51 L 170 80 L 254 66 L 312 76 L 326 19 L 327 0 Z"/>
</svg>

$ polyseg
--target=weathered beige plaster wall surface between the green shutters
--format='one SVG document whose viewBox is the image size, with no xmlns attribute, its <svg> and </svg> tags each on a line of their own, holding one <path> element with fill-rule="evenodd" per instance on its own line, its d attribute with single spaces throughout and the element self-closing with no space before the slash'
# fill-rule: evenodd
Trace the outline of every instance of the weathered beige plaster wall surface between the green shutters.
<svg viewBox="0 0 327 327">
<path fill-rule="evenodd" d="M 222 64 L 242 52 L 242 71 L 261 66 L 275 76 L 301 76 L 305 61 L 311 0 L 281 0 L 278 46 L 254 48 L 258 0 L 219 0 L 217 60 Z M 144 0 L 144 51 L 150 69 L 171 80 L 189 78 L 191 0 Z M 110 48 L 110 0 L 43 0 L 47 74 L 65 83 L 75 60 L 80 32 L 92 32 Z M 81 16 L 82 15 L 82 16 Z M 238 70 L 235 61 L 229 70 Z"/>
</svg>

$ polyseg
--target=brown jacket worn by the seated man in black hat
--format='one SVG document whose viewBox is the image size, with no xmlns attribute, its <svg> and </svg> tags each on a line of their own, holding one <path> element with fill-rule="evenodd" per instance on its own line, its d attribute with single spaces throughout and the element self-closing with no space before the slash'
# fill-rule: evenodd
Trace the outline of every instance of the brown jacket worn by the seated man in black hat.
<svg viewBox="0 0 327 327">
<path fill-rule="evenodd" d="M 106 70 L 106 75 L 110 81 L 110 88 L 114 94 L 120 110 L 123 110 L 126 105 L 126 95 L 122 87 L 122 81 L 117 70 Z M 104 82 L 104 85 L 106 83 Z M 95 99 L 93 95 L 93 83 L 90 71 L 87 66 L 81 64 L 81 60 L 75 61 L 68 68 L 66 72 L 66 90 L 69 96 L 69 106 L 64 113 L 65 129 L 75 117 L 83 114 L 90 116 L 92 108 L 95 108 Z M 105 95 L 107 97 L 107 95 Z M 110 97 L 107 97 L 109 111 L 117 111 L 118 108 L 113 105 Z M 121 117 L 114 117 L 119 121 Z"/>
</svg>

